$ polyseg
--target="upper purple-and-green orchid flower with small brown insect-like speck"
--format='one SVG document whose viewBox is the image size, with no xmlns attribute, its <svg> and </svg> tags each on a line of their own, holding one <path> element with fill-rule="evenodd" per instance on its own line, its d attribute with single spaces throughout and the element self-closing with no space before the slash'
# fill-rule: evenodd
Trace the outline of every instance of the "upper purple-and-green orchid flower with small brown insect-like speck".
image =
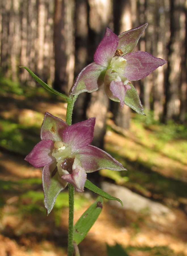
<svg viewBox="0 0 187 256">
<path fill-rule="evenodd" d="M 147 25 L 119 36 L 107 28 L 94 54 L 94 62 L 79 73 L 70 94 L 93 92 L 104 84 L 106 95 L 120 102 L 121 108 L 126 104 L 144 114 L 138 93 L 129 81 L 142 79 L 167 62 L 144 51 L 132 52 Z"/>
</svg>

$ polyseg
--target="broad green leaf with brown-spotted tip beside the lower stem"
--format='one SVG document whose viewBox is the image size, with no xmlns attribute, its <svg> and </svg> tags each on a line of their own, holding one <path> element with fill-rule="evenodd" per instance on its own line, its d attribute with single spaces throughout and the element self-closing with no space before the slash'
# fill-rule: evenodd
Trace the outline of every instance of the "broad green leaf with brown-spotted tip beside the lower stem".
<svg viewBox="0 0 187 256">
<path fill-rule="evenodd" d="M 73 240 L 77 245 L 85 238 L 88 231 L 97 220 L 102 207 L 103 199 L 102 197 L 98 197 L 97 200 L 83 213 L 73 227 Z"/>
</svg>

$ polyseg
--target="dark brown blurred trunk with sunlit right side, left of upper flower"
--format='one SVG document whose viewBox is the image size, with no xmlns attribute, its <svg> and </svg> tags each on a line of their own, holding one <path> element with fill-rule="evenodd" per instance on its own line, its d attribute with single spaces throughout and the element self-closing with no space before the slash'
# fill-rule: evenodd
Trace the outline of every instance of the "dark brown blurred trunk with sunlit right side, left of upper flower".
<svg viewBox="0 0 187 256">
<path fill-rule="evenodd" d="M 54 88 L 68 94 L 74 77 L 74 0 L 55 0 Z"/>
</svg>

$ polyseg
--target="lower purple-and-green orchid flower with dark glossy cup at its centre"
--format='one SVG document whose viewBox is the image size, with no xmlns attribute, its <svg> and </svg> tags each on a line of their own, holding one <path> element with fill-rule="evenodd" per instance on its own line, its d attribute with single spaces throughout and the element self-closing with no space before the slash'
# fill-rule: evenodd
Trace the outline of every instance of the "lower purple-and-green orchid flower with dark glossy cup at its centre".
<svg viewBox="0 0 187 256">
<path fill-rule="evenodd" d="M 94 125 L 94 117 L 69 126 L 62 119 L 45 113 L 41 141 L 25 160 L 34 167 L 44 167 L 42 181 L 48 213 L 68 183 L 77 191 L 84 191 L 86 173 L 100 169 L 126 170 L 108 153 L 89 145 L 93 140 Z"/>
</svg>

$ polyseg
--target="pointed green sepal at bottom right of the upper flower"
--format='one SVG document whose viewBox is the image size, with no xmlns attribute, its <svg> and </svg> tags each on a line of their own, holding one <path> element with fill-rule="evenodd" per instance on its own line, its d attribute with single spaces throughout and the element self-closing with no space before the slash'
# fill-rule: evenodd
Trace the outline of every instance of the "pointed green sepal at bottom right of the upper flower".
<svg viewBox="0 0 187 256">
<path fill-rule="evenodd" d="M 138 92 L 131 83 L 128 84 L 131 86 L 131 89 L 126 91 L 124 100 L 125 105 L 135 110 L 138 114 L 145 115 L 143 111 L 144 108 L 142 107 Z"/>
</svg>

